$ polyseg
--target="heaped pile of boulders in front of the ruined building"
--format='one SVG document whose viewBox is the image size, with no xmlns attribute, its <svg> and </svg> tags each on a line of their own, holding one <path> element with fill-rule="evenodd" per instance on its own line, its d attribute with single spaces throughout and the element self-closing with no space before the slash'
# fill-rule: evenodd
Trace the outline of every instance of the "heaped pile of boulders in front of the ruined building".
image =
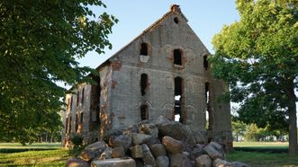
<svg viewBox="0 0 298 167">
<path fill-rule="evenodd" d="M 176 121 L 159 117 L 125 130 L 111 129 L 102 140 L 87 145 L 66 166 L 97 167 L 246 167 L 225 161 L 221 145 L 205 139 Z"/>
</svg>

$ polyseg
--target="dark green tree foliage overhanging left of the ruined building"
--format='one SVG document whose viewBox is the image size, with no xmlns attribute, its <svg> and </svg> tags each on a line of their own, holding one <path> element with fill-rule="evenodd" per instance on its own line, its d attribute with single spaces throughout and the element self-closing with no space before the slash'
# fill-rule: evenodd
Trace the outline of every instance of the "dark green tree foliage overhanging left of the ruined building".
<svg viewBox="0 0 298 167">
<path fill-rule="evenodd" d="M 66 90 L 56 83 L 86 81 L 93 70 L 76 58 L 112 47 L 107 35 L 117 19 L 90 6 L 105 7 L 100 0 L 0 1 L 1 141 L 32 141 L 42 126 L 60 125 Z"/>
</svg>

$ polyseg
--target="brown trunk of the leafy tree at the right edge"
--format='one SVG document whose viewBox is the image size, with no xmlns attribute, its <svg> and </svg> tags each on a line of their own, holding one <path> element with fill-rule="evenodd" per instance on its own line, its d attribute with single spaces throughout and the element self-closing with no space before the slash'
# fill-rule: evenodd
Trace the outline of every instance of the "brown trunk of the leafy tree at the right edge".
<svg viewBox="0 0 298 167">
<path fill-rule="evenodd" d="M 293 91 L 293 83 L 288 90 L 288 113 L 289 113 L 289 154 L 295 155 L 297 149 L 297 117 L 296 117 L 296 95 Z"/>
</svg>

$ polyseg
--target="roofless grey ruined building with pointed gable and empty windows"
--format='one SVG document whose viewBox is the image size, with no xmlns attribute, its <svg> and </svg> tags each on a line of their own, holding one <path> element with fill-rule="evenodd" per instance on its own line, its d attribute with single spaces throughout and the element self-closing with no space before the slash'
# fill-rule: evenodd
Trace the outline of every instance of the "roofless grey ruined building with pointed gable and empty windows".
<svg viewBox="0 0 298 167">
<path fill-rule="evenodd" d="M 78 84 L 67 94 L 64 145 L 74 134 L 95 141 L 108 129 L 164 116 L 230 147 L 230 103 L 217 101 L 228 88 L 212 78 L 209 55 L 179 6 L 172 5 L 96 68 L 97 84 Z"/>
</svg>

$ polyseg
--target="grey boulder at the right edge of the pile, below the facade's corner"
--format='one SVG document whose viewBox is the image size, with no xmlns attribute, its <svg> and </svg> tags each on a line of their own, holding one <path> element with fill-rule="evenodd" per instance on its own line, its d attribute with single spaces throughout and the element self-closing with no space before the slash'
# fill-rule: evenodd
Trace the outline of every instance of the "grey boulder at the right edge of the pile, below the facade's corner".
<svg viewBox="0 0 298 167">
<path fill-rule="evenodd" d="M 211 142 L 210 144 L 203 147 L 203 151 L 209 154 L 209 156 L 215 160 L 216 158 L 225 159 L 223 148 L 220 144 Z"/>
</svg>

